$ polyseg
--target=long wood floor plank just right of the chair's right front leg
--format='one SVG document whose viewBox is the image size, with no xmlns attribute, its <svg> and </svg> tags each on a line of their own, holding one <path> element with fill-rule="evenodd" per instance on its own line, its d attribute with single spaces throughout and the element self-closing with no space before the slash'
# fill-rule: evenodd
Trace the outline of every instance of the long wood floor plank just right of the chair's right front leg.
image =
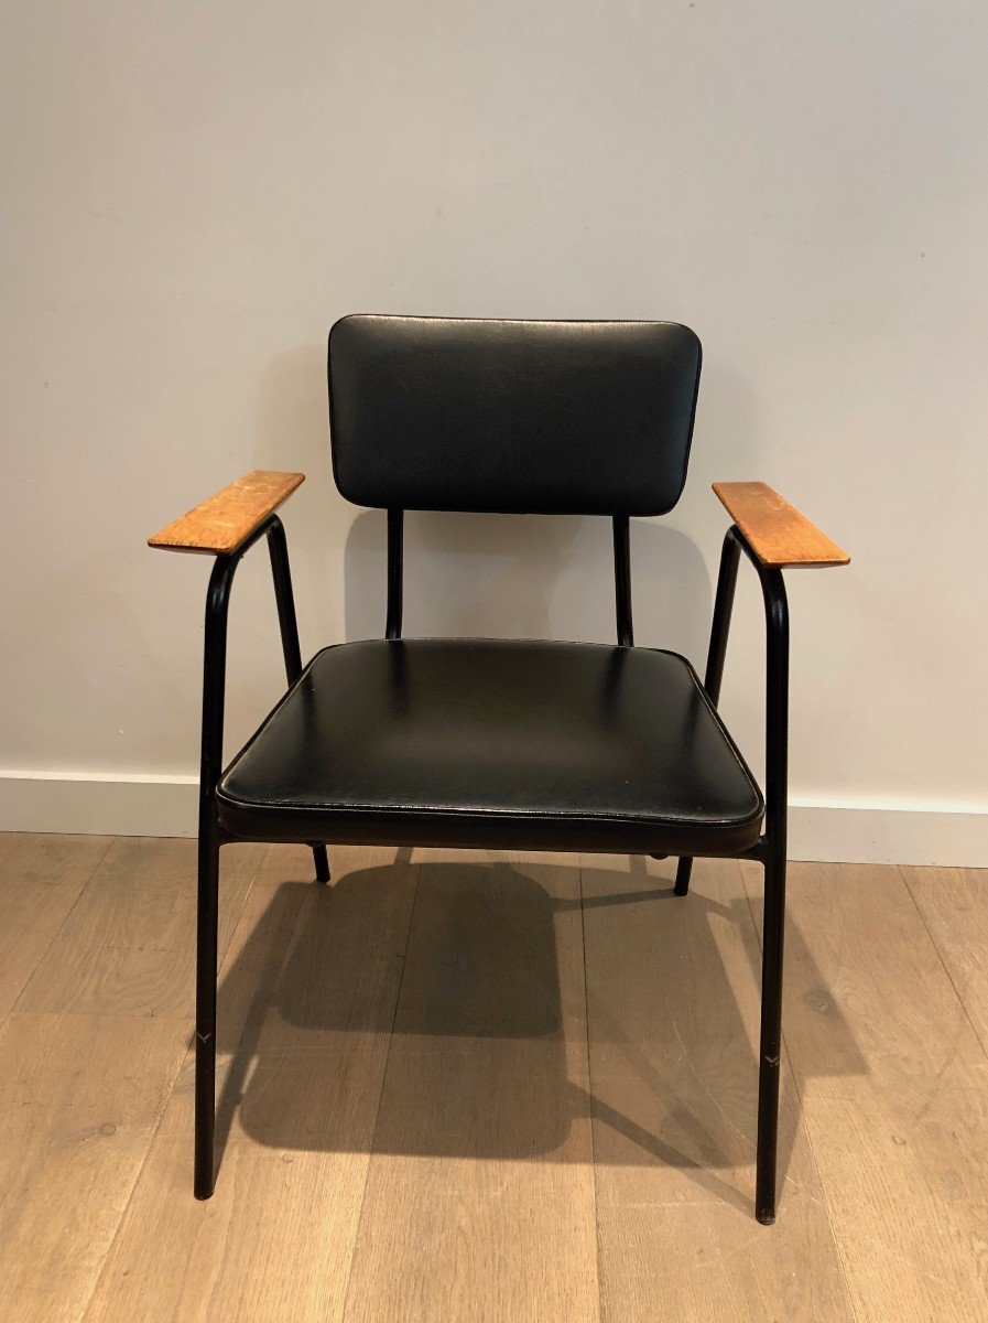
<svg viewBox="0 0 988 1323">
<path fill-rule="evenodd" d="M 859 1319 L 988 1318 L 988 1065 L 900 872 L 791 864 L 789 919 L 785 1041 Z"/>
</svg>

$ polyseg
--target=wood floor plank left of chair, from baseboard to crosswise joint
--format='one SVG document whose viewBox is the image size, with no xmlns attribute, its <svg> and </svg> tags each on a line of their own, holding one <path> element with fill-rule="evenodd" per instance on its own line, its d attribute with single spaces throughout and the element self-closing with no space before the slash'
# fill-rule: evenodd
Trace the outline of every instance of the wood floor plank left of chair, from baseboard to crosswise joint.
<svg viewBox="0 0 988 1323">
<path fill-rule="evenodd" d="M 267 845 L 221 859 L 221 954 Z M 17 999 L 17 1011 L 190 1019 L 195 984 L 195 841 L 118 837 Z"/>
</svg>

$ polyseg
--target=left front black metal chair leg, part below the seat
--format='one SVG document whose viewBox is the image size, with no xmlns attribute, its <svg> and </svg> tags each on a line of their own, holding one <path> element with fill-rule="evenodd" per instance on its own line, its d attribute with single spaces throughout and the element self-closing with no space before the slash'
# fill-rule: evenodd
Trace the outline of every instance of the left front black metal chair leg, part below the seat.
<svg viewBox="0 0 988 1323">
<path fill-rule="evenodd" d="M 195 1179 L 197 1199 L 215 1184 L 213 1138 L 217 1088 L 217 929 L 219 916 L 219 835 L 215 824 L 199 833 L 199 885 L 195 958 Z"/>
</svg>

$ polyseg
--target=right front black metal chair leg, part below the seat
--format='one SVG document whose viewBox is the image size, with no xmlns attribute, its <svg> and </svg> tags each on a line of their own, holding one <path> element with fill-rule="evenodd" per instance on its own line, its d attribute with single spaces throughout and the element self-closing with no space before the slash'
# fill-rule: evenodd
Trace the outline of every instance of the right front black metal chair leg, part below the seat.
<svg viewBox="0 0 988 1323">
<path fill-rule="evenodd" d="M 782 954 L 786 914 L 786 860 L 779 852 L 765 864 L 762 937 L 762 1027 L 758 1069 L 758 1148 L 754 1215 L 765 1226 L 775 1221 L 775 1166 L 779 1130 L 782 1054 Z"/>
</svg>

